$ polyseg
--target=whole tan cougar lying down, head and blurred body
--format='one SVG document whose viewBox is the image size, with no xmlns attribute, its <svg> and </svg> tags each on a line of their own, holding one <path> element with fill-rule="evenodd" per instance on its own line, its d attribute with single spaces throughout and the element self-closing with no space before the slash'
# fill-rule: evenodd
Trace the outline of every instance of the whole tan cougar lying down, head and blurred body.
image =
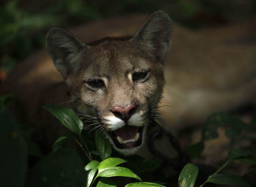
<svg viewBox="0 0 256 187">
<path fill-rule="evenodd" d="M 164 128 L 177 129 L 201 123 L 211 112 L 255 102 L 254 22 L 195 32 L 159 10 L 135 32 L 143 19 L 87 24 L 73 30 L 78 37 L 51 28 L 46 48 L 60 73 L 46 52 L 39 52 L 10 73 L 4 92 L 18 92 L 30 121 L 40 105 L 71 98 L 69 106 L 125 155 L 143 146 L 154 118 L 165 117 L 170 126 Z M 104 35 L 111 37 L 90 42 Z"/>
</svg>

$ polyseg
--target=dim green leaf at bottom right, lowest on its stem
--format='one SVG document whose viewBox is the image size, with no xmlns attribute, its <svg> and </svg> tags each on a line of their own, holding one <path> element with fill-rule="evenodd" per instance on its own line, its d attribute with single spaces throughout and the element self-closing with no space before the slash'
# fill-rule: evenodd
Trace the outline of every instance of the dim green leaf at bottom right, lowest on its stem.
<svg viewBox="0 0 256 187">
<path fill-rule="evenodd" d="M 242 178 L 229 174 L 210 175 L 205 183 L 229 184 L 234 186 L 251 187 L 251 185 Z"/>
</svg>

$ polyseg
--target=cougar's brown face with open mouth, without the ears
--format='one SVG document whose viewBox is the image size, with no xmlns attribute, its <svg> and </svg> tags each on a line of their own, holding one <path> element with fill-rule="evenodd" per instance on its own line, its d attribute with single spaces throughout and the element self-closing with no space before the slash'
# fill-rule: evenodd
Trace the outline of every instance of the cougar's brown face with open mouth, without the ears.
<svg viewBox="0 0 256 187">
<path fill-rule="evenodd" d="M 88 129 L 104 132 L 121 153 L 136 152 L 162 94 L 162 63 L 138 42 L 115 40 L 90 46 L 77 63 L 69 85 L 79 113 L 92 116 Z"/>
</svg>

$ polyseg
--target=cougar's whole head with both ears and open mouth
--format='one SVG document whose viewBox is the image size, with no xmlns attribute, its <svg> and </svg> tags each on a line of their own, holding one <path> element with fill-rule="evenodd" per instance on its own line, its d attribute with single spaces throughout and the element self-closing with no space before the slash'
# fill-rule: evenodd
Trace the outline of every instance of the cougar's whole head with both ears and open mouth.
<svg viewBox="0 0 256 187">
<path fill-rule="evenodd" d="M 139 150 L 156 112 L 171 25 L 169 16 L 157 11 L 132 37 L 83 43 L 62 28 L 52 28 L 46 36 L 48 52 L 76 109 L 91 116 L 85 121 L 123 154 Z"/>
</svg>

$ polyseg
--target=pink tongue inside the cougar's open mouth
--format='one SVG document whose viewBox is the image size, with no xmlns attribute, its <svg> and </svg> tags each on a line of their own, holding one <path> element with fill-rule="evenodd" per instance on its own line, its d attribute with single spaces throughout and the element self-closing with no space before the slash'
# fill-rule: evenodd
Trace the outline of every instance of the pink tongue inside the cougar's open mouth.
<svg viewBox="0 0 256 187">
<path fill-rule="evenodd" d="M 115 130 L 115 135 L 119 136 L 123 140 L 129 140 L 134 139 L 137 132 L 139 130 L 139 127 L 135 126 L 124 126 L 121 129 Z"/>
</svg>

